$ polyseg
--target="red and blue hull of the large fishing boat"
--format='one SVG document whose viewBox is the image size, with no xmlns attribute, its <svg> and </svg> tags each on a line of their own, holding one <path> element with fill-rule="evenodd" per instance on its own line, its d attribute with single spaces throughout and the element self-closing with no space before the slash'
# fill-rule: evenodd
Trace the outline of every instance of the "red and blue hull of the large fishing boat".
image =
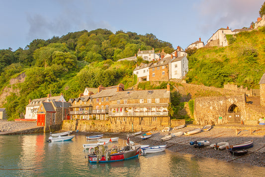
<svg viewBox="0 0 265 177">
<path fill-rule="evenodd" d="M 125 151 L 123 153 L 111 154 L 109 160 L 107 160 L 107 158 L 105 158 L 105 155 L 103 155 L 101 159 L 98 160 L 98 163 L 109 163 L 109 162 L 117 162 L 117 161 L 132 159 L 138 157 L 139 153 L 140 153 L 140 147 L 135 150 Z M 88 155 L 88 162 L 97 163 L 97 156 Z"/>
</svg>

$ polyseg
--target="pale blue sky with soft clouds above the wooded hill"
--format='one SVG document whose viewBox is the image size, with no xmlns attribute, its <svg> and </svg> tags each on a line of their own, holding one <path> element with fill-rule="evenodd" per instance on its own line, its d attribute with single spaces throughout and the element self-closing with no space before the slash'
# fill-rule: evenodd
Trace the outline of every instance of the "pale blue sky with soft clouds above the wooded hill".
<svg viewBox="0 0 265 177">
<path fill-rule="evenodd" d="M 265 0 L 0 0 L 0 49 L 25 48 L 34 39 L 106 28 L 154 34 L 185 49 L 219 28 L 256 22 Z"/>
</svg>

